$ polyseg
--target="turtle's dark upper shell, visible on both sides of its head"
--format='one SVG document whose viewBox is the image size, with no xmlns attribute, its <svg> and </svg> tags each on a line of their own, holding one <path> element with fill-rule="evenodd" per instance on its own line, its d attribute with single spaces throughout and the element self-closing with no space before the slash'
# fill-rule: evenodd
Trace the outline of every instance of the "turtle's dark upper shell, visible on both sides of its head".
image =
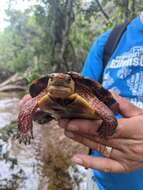
<svg viewBox="0 0 143 190">
<path fill-rule="evenodd" d="M 107 105 L 114 113 L 118 112 L 118 103 L 113 98 L 111 92 L 105 89 L 99 82 L 81 76 L 76 72 L 67 72 L 75 82 L 76 89 L 86 87 L 86 89 L 95 95 L 101 102 Z M 50 75 L 34 80 L 29 88 L 29 93 L 32 97 L 36 97 L 40 92 L 46 89 Z M 84 92 L 83 92 L 84 96 Z"/>
</svg>

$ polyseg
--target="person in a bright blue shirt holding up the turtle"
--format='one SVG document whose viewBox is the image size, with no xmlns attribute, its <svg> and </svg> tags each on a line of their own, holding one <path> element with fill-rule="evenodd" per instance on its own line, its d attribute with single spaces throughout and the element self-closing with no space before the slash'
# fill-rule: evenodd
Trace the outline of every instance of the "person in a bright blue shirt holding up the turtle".
<svg viewBox="0 0 143 190">
<path fill-rule="evenodd" d="M 103 70 L 104 45 L 111 30 L 93 43 L 81 74 L 99 80 Z M 73 161 L 92 168 L 99 190 L 143 189 L 143 13 L 127 26 L 103 73 L 103 86 L 117 94 L 119 103 L 116 133 L 100 139 L 101 121 L 61 120 L 65 135 L 92 149 Z M 124 98 L 123 98 L 124 97 Z M 96 189 L 96 187 L 93 187 Z M 92 190 L 92 189 L 90 189 Z"/>
</svg>

